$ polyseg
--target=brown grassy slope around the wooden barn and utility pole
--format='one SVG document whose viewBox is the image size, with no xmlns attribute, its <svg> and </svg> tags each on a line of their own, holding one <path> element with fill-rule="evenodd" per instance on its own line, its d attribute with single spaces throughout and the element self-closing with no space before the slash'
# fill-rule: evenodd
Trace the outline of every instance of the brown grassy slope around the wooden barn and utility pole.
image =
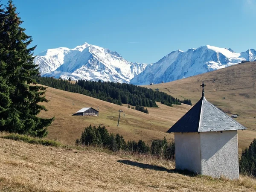
<svg viewBox="0 0 256 192">
<path fill-rule="evenodd" d="M 148 108 L 149 114 L 146 114 L 128 108 L 128 105 L 119 106 L 51 87 L 47 89 L 46 96 L 50 102 L 44 105 L 49 111 L 41 112 L 40 115 L 55 116 L 55 121 L 49 127 L 47 138 L 66 144 L 75 143 L 84 128 L 90 124 L 105 125 L 109 131 L 122 134 L 125 140 L 142 139 L 149 144 L 151 140 L 163 139 L 165 136 L 170 140 L 173 134 L 167 134 L 166 131 L 186 113 L 186 110 L 191 108 L 185 104 L 169 107 L 157 103 L 159 108 Z M 76 111 L 84 107 L 95 109 L 99 107 L 99 116 L 73 116 Z M 119 109 L 124 113 L 121 113 L 119 127 L 117 127 Z"/>
</svg>

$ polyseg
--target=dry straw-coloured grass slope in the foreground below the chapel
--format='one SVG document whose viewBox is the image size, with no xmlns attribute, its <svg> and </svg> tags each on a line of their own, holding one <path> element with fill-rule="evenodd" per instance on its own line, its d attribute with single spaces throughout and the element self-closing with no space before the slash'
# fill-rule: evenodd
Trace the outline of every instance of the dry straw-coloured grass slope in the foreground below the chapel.
<svg viewBox="0 0 256 192">
<path fill-rule="evenodd" d="M 174 162 L 0 139 L 0 191 L 251 192 L 256 180 L 184 175 Z M 43 157 L 43 158 L 42 158 Z"/>
</svg>

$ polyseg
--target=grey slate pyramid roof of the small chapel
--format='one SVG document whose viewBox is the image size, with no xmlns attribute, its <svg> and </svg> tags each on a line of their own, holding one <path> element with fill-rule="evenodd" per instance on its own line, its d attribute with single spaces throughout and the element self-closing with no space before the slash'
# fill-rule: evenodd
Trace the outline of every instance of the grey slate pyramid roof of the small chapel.
<svg viewBox="0 0 256 192">
<path fill-rule="evenodd" d="M 202 96 L 201 99 L 166 132 L 185 133 L 244 129 L 246 128 L 243 125 L 219 110 Z"/>
</svg>

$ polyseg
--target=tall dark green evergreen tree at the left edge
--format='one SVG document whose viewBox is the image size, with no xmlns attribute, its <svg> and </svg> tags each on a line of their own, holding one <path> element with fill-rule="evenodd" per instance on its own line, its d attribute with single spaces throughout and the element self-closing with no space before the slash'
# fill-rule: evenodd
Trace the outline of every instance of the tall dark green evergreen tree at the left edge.
<svg viewBox="0 0 256 192">
<path fill-rule="evenodd" d="M 3 96 L 0 131 L 44 137 L 46 127 L 53 121 L 53 118 L 37 116 L 41 110 L 47 111 L 43 105 L 38 105 L 48 102 L 44 96 L 46 87 L 32 85 L 36 84 L 32 77 L 39 73 L 38 66 L 33 63 L 35 47 L 28 48 L 32 37 L 20 27 L 22 21 L 12 0 L 5 12 L 0 10 L 0 23 L 0 89 Z"/>
</svg>

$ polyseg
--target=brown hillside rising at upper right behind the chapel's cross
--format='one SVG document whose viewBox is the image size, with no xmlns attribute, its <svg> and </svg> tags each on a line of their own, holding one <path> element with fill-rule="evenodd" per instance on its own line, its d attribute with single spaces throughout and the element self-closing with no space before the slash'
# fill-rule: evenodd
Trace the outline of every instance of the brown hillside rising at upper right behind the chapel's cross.
<svg viewBox="0 0 256 192">
<path fill-rule="evenodd" d="M 256 138 L 256 62 L 236 64 L 221 70 L 192 76 L 163 84 L 148 85 L 180 99 L 201 98 L 202 81 L 206 99 L 231 114 L 238 114 L 238 122 L 248 128 L 239 131 L 239 146 L 248 146 Z"/>
</svg>

